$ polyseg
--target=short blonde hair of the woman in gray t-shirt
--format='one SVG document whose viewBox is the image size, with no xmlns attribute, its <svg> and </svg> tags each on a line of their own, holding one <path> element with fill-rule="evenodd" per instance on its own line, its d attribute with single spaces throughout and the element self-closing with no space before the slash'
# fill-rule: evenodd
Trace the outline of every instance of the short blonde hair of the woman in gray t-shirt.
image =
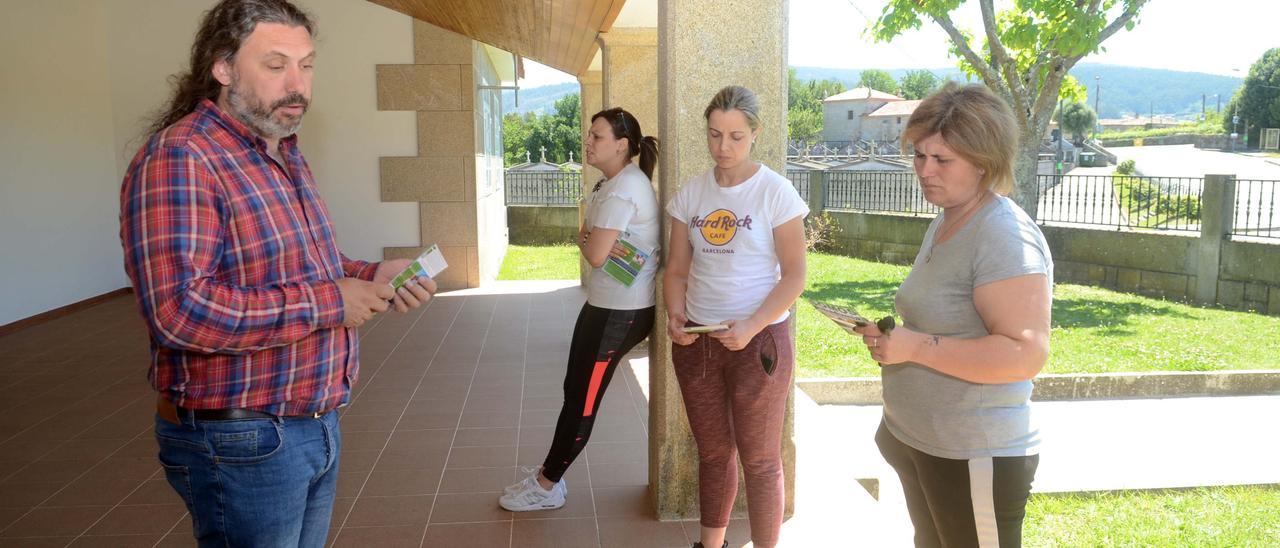
<svg viewBox="0 0 1280 548">
<path fill-rule="evenodd" d="M 902 150 L 934 134 L 983 170 L 984 187 L 1005 196 L 1014 191 L 1018 123 L 1009 105 L 987 86 L 947 82 L 920 101 L 902 131 Z"/>
</svg>

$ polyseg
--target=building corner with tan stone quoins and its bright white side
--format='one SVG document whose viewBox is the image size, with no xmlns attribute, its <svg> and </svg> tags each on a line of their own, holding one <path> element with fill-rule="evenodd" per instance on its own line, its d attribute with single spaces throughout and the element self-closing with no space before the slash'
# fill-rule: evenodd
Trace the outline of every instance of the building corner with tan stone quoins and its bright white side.
<svg viewBox="0 0 1280 548">
<path fill-rule="evenodd" d="M 384 257 L 415 257 L 435 243 L 449 262 L 440 288 L 480 287 L 498 275 L 507 248 L 500 96 L 492 88 L 499 78 L 489 46 L 415 20 L 413 64 L 378 65 L 376 79 L 379 110 L 417 118 L 417 154 L 381 157 L 380 195 L 417 204 L 421 246 L 387 247 Z"/>
</svg>

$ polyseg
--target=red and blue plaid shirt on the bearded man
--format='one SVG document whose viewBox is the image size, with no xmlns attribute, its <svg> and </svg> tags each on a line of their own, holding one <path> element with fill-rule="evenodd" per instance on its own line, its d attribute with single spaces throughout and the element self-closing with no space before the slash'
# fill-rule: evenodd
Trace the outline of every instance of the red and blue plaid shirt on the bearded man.
<svg viewBox="0 0 1280 548">
<path fill-rule="evenodd" d="M 346 403 L 358 373 L 335 280 L 343 256 L 298 151 L 202 101 L 152 136 L 120 189 L 124 268 L 151 334 L 151 384 L 188 408 L 302 415 Z"/>
</svg>

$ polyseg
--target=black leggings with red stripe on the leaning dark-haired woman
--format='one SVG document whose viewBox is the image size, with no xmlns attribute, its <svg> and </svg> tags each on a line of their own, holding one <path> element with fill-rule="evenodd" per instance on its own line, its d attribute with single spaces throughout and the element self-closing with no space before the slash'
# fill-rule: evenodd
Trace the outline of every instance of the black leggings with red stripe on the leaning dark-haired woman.
<svg viewBox="0 0 1280 548">
<path fill-rule="evenodd" d="M 543 461 L 543 475 L 547 479 L 559 481 L 586 447 L 613 371 L 618 369 L 622 356 L 649 337 L 653 330 L 653 306 L 611 310 L 582 305 L 568 350 L 564 406 L 556 423 L 552 448 Z"/>
</svg>

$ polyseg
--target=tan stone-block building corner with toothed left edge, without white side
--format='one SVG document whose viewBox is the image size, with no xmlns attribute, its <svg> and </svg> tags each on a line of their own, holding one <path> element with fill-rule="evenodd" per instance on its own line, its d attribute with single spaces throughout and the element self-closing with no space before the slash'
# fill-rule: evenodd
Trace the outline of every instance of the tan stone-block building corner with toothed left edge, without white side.
<svg viewBox="0 0 1280 548">
<path fill-rule="evenodd" d="M 436 279 L 444 289 L 480 286 L 474 59 L 471 38 L 413 20 L 413 64 L 376 73 L 378 109 L 416 111 L 419 143 L 417 156 L 380 159 L 381 200 L 419 202 L 422 246 L 439 245 L 449 262 Z"/>
</svg>

